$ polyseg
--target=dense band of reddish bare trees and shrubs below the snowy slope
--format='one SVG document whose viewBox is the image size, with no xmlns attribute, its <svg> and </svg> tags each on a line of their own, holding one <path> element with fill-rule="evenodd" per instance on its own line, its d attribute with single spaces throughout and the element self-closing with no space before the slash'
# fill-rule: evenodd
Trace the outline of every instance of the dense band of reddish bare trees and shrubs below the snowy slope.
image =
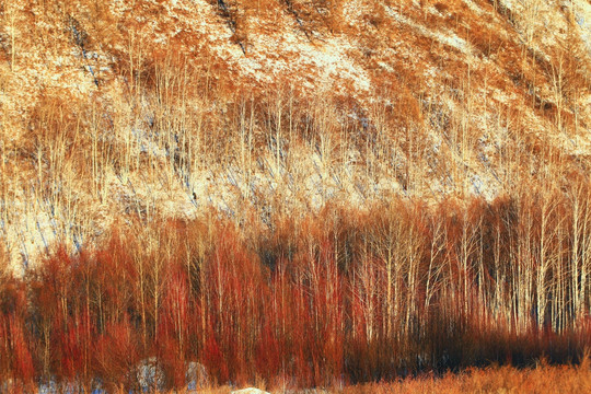
<svg viewBox="0 0 591 394">
<path fill-rule="evenodd" d="M 253 223 L 256 221 L 253 221 Z M 329 385 L 591 345 L 589 189 L 491 204 L 393 200 L 269 227 L 119 223 L 0 287 L 0 381 Z M 196 366 L 193 363 L 193 366 Z"/>
</svg>

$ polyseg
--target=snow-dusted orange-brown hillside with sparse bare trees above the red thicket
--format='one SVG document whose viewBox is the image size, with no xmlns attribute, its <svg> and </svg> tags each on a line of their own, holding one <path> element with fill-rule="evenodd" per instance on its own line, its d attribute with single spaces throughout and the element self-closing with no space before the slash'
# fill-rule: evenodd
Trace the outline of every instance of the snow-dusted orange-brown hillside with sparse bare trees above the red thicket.
<svg viewBox="0 0 591 394">
<path fill-rule="evenodd" d="M 126 216 L 269 222 L 588 182 L 584 0 L 0 12 L 0 240 L 15 267 Z"/>
</svg>

